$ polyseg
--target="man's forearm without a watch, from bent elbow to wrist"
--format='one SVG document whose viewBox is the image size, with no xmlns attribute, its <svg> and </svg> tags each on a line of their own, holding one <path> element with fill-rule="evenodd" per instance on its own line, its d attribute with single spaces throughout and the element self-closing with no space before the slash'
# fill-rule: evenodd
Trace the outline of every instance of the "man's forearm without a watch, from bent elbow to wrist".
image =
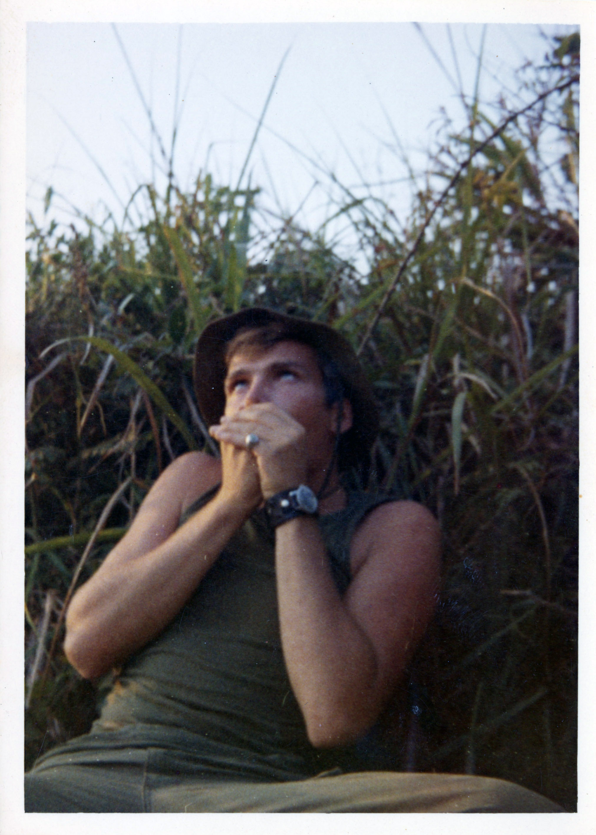
<svg viewBox="0 0 596 835">
<path fill-rule="evenodd" d="M 110 554 L 68 608 L 64 649 L 78 671 L 103 675 L 159 635 L 249 514 L 216 496 L 147 553 Z"/>
</svg>

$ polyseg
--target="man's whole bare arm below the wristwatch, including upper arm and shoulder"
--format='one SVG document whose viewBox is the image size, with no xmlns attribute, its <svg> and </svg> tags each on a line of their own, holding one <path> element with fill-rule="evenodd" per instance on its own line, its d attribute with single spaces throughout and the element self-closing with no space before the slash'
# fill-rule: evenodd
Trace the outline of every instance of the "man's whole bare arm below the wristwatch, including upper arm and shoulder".
<svg viewBox="0 0 596 835">
<path fill-rule="evenodd" d="M 341 598 L 315 521 L 277 529 L 281 640 L 313 745 L 346 744 L 376 721 L 432 615 L 438 553 L 432 514 L 382 505 L 356 532 Z"/>
</svg>

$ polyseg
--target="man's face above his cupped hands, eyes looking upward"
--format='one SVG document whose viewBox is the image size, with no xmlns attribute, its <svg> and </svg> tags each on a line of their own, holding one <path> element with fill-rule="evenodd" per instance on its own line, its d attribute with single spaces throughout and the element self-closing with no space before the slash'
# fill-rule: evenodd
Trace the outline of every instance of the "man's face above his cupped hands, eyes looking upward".
<svg viewBox="0 0 596 835">
<path fill-rule="evenodd" d="M 275 403 L 306 429 L 314 458 L 331 456 L 337 407 L 327 407 L 316 353 L 301 342 L 240 348 L 225 377 L 225 415 L 255 403 Z"/>
</svg>

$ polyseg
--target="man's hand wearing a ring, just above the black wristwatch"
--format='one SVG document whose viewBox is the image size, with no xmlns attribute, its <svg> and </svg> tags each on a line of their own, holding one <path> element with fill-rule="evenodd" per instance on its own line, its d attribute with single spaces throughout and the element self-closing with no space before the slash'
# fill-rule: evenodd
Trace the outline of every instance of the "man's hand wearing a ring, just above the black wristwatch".
<svg viewBox="0 0 596 835">
<path fill-rule="evenodd" d="M 221 417 L 210 433 L 222 443 L 222 458 L 226 444 L 253 458 L 263 498 L 306 483 L 305 429 L 275 403 L 255 403 Z M 259 443 L 247 450 L 246 437 L 251 433 Z"/>
</svg>

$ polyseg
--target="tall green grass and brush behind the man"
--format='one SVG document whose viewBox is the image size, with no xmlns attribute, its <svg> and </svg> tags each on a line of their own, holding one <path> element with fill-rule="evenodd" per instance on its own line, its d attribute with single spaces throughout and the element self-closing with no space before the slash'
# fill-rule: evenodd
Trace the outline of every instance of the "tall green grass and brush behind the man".
<svg viewBox="0 0 596 835">
<path fill-rule="evenodd" d="M 48 189 L 27 253 L 26 767 L 101 698 L 63 657 L 73 590 L 170 460 L 216 453 L 197 334 L 258 304 L 351 340 L 381 407 L 369 486 L 427 504 L 444 534 L 437 616 L 352 762 L 504 777 L 573 811 L 578 73 L 574 33 L 520 70 L 528 107 L 495 103 L 495 121 L 467 101 L 466 129 L 446 121 L 412 175 L 405 223 L 372 186 L 334 182 L 364 278 L 326 226 L 265 219 L 257 188 L 201 171 L 180 190 L 165 151 L 168 185 L 139 185 L 119 224 L 58 226 Z"/>
</svg>

